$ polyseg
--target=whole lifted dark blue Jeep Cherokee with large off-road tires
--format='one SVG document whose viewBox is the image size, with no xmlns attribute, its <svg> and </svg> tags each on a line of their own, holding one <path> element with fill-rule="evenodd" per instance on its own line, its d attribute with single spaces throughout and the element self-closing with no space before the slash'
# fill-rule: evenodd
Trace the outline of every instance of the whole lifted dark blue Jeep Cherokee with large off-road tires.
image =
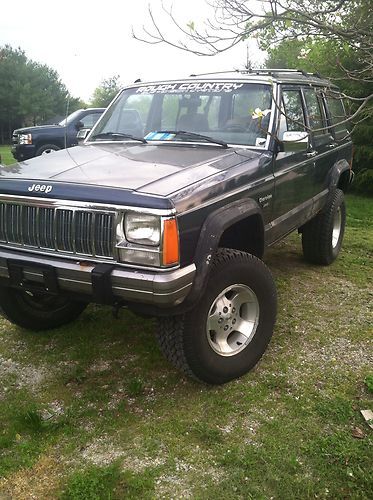
<svg viewBox="0 0 373 500">
<path fill-rule="evenodd" d="M 89 302 L 157 316 L 163 352 L 212 384 L 266 350 L 265 249 L 292 231 L 327 265 L 352 144 L 338 89 L 300 71 L 136 83 L 81 146 L 0 170 L 0 307 L 29 329 Z"/>
</svg>

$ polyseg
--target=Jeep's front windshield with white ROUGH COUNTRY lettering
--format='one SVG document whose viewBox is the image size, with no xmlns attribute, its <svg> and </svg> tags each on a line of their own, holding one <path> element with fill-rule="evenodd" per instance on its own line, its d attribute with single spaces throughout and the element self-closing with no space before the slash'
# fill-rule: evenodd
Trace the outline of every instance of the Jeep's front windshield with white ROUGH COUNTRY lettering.
<svg viewBox="0 0 373 500">
<path fill-rule="evenodd" d="M 208 143 L 210 138 L 212 143 L 263 148 L 271 101 L 270 85 L 239 82 L 178 82 L 125 89 L 89 141 L 108 141 L 110 134 L 127 134 L 145 137 L 148 142 Z"/>
</svg>

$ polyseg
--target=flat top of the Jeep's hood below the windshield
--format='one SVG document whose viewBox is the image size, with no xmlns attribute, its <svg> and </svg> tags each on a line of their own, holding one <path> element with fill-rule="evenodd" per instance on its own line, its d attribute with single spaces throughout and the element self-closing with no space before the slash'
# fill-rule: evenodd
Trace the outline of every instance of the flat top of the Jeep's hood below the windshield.
<svg viewBox="0 0 373 500">
<path fill-rule="evenodd" d="M 19 179 L 167 196 L 259 155 L 210 145 L 83 145 L 0 168 L 0 192 L 1 179 Z"/>
</svg>

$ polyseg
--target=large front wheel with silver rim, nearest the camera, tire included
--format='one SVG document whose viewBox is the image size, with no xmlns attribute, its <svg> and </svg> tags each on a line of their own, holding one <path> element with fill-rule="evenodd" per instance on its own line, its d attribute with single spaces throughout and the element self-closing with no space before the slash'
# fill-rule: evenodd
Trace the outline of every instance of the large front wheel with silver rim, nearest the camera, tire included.
<svg viewBox="0 0 373 500">
<path fill-rule="evenodd" d="M 240 377 L 267 348 L 276 302 L 272 275 L 261 260 L 221 248 L 197 305 L 186 314 L 158 320 L 161 350 L 199 381 L 223 384 Z"/>
</svg>

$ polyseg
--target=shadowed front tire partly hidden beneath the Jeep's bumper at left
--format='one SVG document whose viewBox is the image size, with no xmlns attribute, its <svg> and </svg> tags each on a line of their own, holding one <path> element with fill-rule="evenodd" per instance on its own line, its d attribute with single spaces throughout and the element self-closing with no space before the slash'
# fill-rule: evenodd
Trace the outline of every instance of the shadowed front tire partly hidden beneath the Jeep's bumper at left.
<svg viewBox="0 0 373 500">
<path fill-rule="evenodd" d="M 11 323 L 27 330 L 47 330 L 70 323 L 86 308 L 85 302 L 46 293 L 0 287 L 0 311 Z"/>
</svg>

